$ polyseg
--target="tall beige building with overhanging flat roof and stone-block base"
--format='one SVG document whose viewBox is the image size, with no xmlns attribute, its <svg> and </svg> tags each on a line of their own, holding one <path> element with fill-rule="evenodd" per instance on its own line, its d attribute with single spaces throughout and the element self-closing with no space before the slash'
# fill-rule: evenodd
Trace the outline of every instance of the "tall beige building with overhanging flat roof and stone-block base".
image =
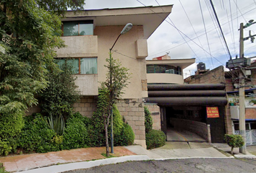
<svg viewBox="0 0 256 173">
<path fill-rule="evenodd" d="M 124 25 L 132 23 L 132 30 L 121 35 L 112 50 L 112 57 L 132 73 L 129 86 L 117 107 L 135 132 L 135 143 L 145 146 L 145 116 L 142 99 L 148 97 L 146 61 L 147 39 L 171 13 L 172 5 L 124 9 L 96 9 L 67 12 L 62 19 L 61 39 L 66 48 L 56 49 L 59 63 L 72 62 L 75 81 L 82 99 L 74 104 L 75 111 L 91 117 L 95 110 L 100 81 L 106 80 L 106 58 L 109 49 Z M 69 60 L 67 58 L 73 58 Z M 30 108 L 36 112 L 36 107 Z"/>
</svg>

